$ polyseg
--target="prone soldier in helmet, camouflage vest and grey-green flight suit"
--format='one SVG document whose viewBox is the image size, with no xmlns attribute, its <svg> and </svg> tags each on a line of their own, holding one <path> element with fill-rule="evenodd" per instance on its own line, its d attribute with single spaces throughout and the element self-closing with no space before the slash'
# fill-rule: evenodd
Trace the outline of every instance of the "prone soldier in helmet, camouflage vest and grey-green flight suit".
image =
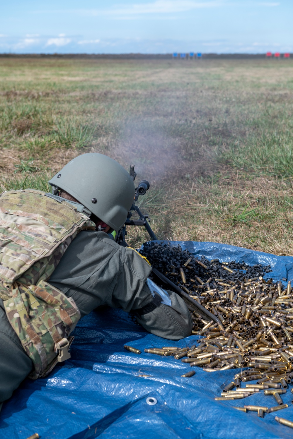
<svg viewBox="0 0 293 439">
<path fill-rule="evenodd" d="M 148 261 L 115 242 L 134 200 L 127 171 L 106 155 L 74 158 L 50 181 L 0 196 L 0 406 L 26 378 L 69 358 L 78 320 L 101 305 L 152 334 L 190 335 L 183 299 L 154 284 Z"/>
</svg>

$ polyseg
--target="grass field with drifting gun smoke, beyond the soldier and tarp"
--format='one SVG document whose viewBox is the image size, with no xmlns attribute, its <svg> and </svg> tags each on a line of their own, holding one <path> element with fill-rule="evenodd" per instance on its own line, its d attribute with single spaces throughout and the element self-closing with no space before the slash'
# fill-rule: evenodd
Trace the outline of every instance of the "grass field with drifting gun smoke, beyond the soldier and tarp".
<svg viewBox="0 0 293 439">
<path fill-rule="evenodd" d="M 101 152 L 150 181 L 159 238 L 293 255 L 292 116 L 290 60 L 1 58 L 0 189 Z"/>
</svg>

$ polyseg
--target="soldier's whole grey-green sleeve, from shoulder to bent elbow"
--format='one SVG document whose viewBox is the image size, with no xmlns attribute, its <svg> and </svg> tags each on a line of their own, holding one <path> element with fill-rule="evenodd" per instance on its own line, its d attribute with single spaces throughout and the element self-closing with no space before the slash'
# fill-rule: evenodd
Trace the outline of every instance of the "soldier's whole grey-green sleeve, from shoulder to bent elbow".
<svg viewBox="0 0 293 439">
<path fill-rule="evenodd" d="M 192 319 L 184 301 L 170 291 L 171 306 L 154 298 L 146 284 L 151 271 L 134 249 L 119 246 L 104 232 L 82 231 L 49 283 L 72 297 L 82 317 L 109 305 L 134 313 L 147 331 L 160 337 L 177 340 L 190 335 Z"/>
</svg>

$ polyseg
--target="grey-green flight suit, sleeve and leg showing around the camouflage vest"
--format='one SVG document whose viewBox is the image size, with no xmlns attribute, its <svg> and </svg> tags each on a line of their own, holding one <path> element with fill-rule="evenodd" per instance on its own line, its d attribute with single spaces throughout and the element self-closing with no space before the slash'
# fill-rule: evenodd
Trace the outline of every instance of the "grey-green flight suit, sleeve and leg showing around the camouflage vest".
<svg viewBox="0 0 293 439">
<path fill-rule="evenodd" d="M 74 299 L 81 318 L 98 306 L 109 305 L 134 312 L 152 334 L 172 340 L 187 337 L 192 319 L 176 293 L 168 291 L 172 306 L 160 303 L 141 314 L 140 309 L 153 301 L 146 284 L 150 272 L 148 263 L 133 249 L 119 246 L 104 232 L 81 231 L 48 282 Z M 32 367 L 0 300 L 0 403 L 10 398 Z"/>
</svg>

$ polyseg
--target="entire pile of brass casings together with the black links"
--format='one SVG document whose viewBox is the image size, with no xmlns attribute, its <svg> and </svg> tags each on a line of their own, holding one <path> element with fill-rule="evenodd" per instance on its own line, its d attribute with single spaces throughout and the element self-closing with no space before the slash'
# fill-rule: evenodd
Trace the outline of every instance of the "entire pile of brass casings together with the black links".
<svg viewBox="0 0 293 439">
<path fill-rule="evenodd" d="M 282 394 L 293 379 L 291 282 L 284 288 L 281 281 L 265 280 L 263 275 L 271 271 L 270 266 L 198 260 L 180 246 L 148 243 L 142 253 L 153 267 L 219 319 L 216 323 L 188 306 L 193 321 L 192 334 L 201 336 L 199 345 L 182 349 L 152 348 L 145 352 L 172 355 L 189 363 L 192 371 L 195 366 L 206 372 L 240 369 L 216 400 L 249 398 L 262 392 L 263 406 L 248 403 L 235 409 L 257 411 L 259 417 L 286 409 L 288 405 L 283 403 Z M 187 372 L 181 376 L 192 375 Z M 293 426 L 286 419 L 284 422 L 279 421 L 283 418 L 275 419 Z"/>
</svg>

